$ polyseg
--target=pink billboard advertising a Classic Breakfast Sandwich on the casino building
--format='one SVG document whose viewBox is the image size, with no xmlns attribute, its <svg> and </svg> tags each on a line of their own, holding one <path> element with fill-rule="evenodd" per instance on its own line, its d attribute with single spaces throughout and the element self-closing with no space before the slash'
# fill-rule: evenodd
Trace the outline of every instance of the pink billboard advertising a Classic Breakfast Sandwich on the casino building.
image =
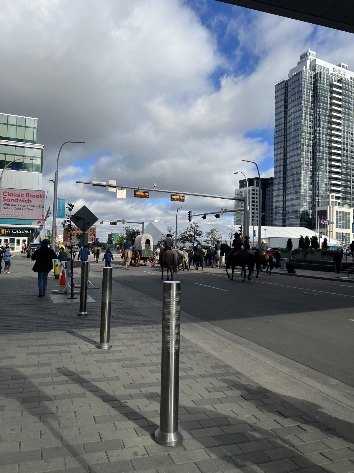
<svg viewBox="0 0 354 473">
<path fill-rule="evenodd" d="M 38 225 L 44 219 L 44 191 L 1 188 L 0 218 L 25 219 Z"/>
</svg>

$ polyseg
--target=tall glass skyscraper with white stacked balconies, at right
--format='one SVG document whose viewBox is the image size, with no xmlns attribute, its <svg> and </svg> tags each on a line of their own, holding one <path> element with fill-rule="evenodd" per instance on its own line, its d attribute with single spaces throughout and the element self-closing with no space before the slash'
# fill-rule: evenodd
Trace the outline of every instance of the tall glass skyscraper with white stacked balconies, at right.
<svg viewBox="0 0 354 473">
<path fill-rule="evenodd" d="M 311 50 L 275 86 L 273 225 L 317 228 L 326 194 L 354 207 L 354 72 Z"/>
</svg>

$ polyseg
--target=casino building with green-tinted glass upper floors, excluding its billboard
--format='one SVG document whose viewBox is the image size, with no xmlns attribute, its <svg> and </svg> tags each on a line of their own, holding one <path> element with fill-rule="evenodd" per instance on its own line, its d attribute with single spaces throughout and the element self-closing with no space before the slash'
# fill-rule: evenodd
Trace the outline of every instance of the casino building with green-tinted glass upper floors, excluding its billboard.
<svg viewBox="0 0 354 473">
<path fill-rule="evenodd" d="M 43 145 L 38 144 L 37 131 L 36 118 L 0 113 L 0 174 L 5 169 L 0 183 L 2 190 L 42 191 Z M 0 205 L 0 229 L 6 230 L 6 235 L 0 234 L 0 245 L 8 243 L 12 250 L 18 251 L 23 241 L 30 243 L 38 239 L 42 218 L 38 212 L 35 218 L 31 212 L 27 215 L 19 212 L 18 218 L 5 217 L 5 205 Z M 44 213 L 44 209 L 39 213 Z"/>
</svg>

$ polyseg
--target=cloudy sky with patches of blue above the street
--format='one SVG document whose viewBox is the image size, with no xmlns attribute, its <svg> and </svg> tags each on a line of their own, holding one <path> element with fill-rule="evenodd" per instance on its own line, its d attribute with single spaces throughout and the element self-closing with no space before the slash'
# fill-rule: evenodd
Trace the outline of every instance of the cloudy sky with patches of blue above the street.
<svg viewBox="0 0 354 473">
<path fill-rule="evenodd" d="M 59 193 L 100 219 L 173 221 L 182 204 L 133 191 L 120 200 L 76 180 L 232 195 L 235 171 L 256 175 L 242 158 L 272 176 L 275 82 L 308 48 L 354 68 L 349 33 L 215 0 L 2 0 L 1 9 L 0 111 L 38 118 L 45 190 L 61 143 L 85 141 L 63 148 Z M 221 207 L 231 202 L 186 197 L 180 221 Z"/>
</svg>

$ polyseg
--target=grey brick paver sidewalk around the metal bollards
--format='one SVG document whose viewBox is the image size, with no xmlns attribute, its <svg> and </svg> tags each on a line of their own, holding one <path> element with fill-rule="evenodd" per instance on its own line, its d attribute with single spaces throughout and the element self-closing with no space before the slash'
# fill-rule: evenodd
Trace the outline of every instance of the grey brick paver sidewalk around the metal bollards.
<svg viewBox="0 0 354 473">
<path fill-rule="evenodd" d="M 351 442 L 186 339 L 183 446 L 155 444 L 160 324 L 116 285 L 106 351 L 99 289 L 78 317 L 77 304 L 37 298 L 22 257 L 0 275 L 1 473 L 354 472 Z"/>
</svg>

